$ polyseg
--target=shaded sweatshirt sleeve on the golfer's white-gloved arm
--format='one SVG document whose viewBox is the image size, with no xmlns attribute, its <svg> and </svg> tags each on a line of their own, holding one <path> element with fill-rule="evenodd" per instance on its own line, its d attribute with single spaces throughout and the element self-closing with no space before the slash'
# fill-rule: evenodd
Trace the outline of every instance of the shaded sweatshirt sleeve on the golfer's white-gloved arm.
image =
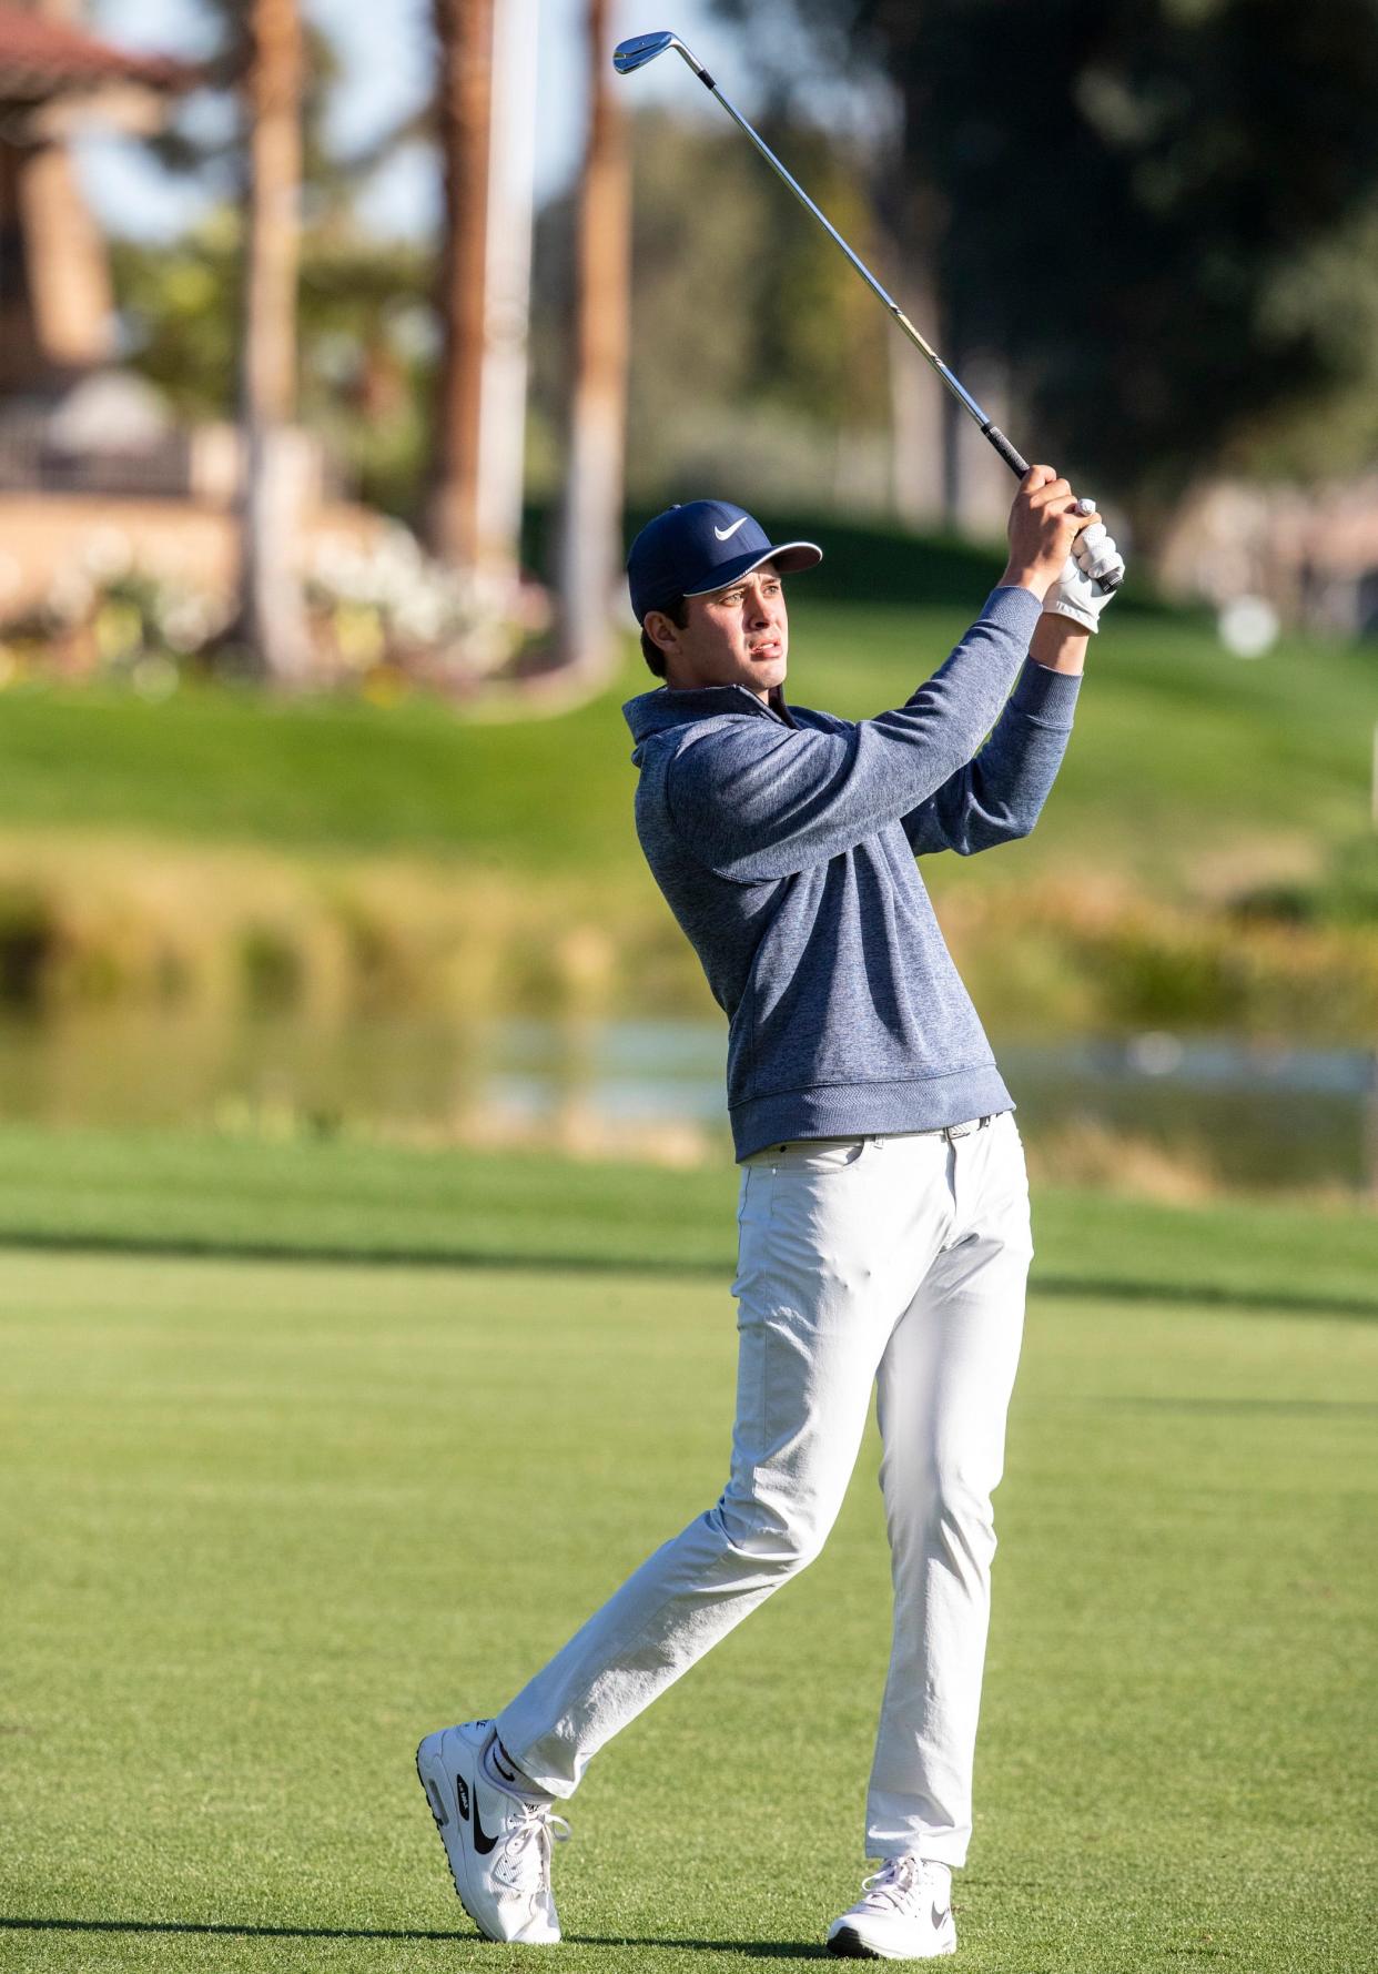
<svg viewBox="0 0 1378 1974">
<path fill-rule="evenodd" d="M 971 857 L 1029 835 L 1062 766 L 1080 685 L 1080 673 L 1025 661 L 981 752 L 904 817 L 918 857 Z"/>
</svg>

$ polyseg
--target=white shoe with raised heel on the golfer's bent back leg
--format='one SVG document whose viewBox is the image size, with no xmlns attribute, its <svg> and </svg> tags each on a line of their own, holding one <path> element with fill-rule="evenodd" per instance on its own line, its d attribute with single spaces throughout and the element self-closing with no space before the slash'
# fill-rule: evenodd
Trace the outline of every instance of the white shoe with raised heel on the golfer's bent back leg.
<svg viewBox="0 0 1378 1974">
<path fill-rule="evenodd" d="M 549 1800 L 503 1788 L 484 1755 L 498 1739 L 490 1721 L 428 1733 L 417 1775 L 450 1860 L 460 1905 L 490 1940 L 549 1946 L 561 1936 L 551 1897 L 551 1850 L 569 1824 Z"/>
</svg>

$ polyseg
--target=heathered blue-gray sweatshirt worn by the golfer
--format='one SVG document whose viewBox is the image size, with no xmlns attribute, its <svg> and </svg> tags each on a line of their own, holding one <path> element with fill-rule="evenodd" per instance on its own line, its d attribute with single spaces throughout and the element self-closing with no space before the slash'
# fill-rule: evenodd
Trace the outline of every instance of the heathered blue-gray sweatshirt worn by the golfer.
<svg viewBox="0 0 1378 1974">
<path fill-rule="evenodd" d="M 744 685 L 622 709 L 642 849 L 728 1019 L 738 1159 L 1015 1107 L 914 859 L 1038 819 L 1080 679 L 1027 655 L 1036 622 L 1029 590 L 991 590 L 934 677 L 871 721 Z"/>
</svg>

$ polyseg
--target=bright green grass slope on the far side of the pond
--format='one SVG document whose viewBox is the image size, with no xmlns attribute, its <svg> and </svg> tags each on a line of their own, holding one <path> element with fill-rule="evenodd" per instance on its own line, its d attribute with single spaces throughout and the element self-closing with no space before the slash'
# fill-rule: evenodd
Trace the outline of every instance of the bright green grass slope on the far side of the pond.
<svg viewBox="0 0 1378 1974">
<path fill-rule="evenodd" d="M 981 602 L 841 602 L 792 590 L 790 697 L 865 717 L 900 705 Z M 608 691 L 541 719 L 466 721 L 438 703 L 272 703 L 188 687 L 4 695 L 0 827 L 136 829 L 290 849 L 415 851 L 511 873 L 642 884 L 620 701 L 655 681 L 628 651 Z M 1200 618 L 1127 612 L 1094 640 L 1068 758 L 1027 843 L 979 882 L 1068 861 L 1190 892 L 1202 857 L 1323 853 L 1368 823 L 1372 657 L 1285 640 L 1242 663 Z M 930 859 L 938 882 L 948 859 Z M 956 863 L 956 859 L 952 861 Z M 965 878 L 969 880 L 969 876 Z"/>
</svg>

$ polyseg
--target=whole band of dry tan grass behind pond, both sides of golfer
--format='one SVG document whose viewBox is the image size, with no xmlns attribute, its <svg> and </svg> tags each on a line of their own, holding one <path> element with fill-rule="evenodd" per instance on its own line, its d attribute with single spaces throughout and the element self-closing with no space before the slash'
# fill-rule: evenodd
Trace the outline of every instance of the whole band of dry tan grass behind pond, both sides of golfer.
<svg viewBox="0 0 1378 1974">
<path fill-rule="evenodd" d="M 991 1028 L 1378 1034 L 1378 928 L 1240 924 L 1100 874 L 944 892 Z M 699 963 L 650 878 L 612 886 L 424 857 L 132 835 L 0 835 L 0 995 L 332 1026 L 385 1011 L 697 1015 Z"/>
</svg>

